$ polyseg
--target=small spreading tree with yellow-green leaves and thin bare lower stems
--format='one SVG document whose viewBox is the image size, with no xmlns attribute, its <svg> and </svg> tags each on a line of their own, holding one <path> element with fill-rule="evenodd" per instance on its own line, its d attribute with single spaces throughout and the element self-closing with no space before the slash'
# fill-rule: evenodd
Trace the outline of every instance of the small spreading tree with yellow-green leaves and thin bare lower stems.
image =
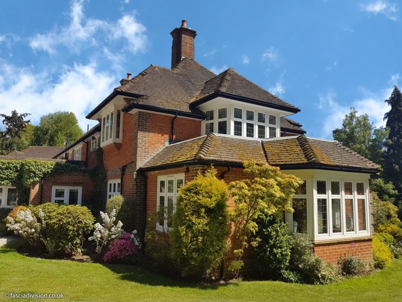
<svg viewBox="0 0 402 302">
<path fill-rule="evenodd" d="M 229 265 L 236 276 L 243 266 L 244 250 L 251 244 L 258 245 L 258 238 L 252 238 L 258 229 L 255 219 L 259 213 L 268 215 L 293 212 L 290 200 L 302 180 L 294 175 L 280 172 L 278 167 L 245 163 L 244 173 L 252 179 L 230 183 L 229 192 L 234 201 L 232 222 L 238 248 L 234 250 L 234 260 Z"/>
</svg>

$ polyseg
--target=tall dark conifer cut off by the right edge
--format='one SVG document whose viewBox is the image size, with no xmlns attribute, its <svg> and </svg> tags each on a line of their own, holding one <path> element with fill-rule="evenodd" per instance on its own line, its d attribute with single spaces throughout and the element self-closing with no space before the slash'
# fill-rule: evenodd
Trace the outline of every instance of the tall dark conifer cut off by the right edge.
<svg viewBox="0 0 402 302">
<path fill-rule="evenodd" d="M 391 97 L 385 100 L 391 106 L 385 113 L 386 127 L 389 129 L 384 156 L 385 178 L 393 183 L 402 199 L 402 93 L 395 86 Z"/>
</svg>

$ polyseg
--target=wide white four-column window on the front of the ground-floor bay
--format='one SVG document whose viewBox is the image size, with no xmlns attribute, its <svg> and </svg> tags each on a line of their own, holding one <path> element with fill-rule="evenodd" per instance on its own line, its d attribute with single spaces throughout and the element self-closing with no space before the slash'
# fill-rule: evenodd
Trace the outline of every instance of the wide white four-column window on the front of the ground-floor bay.
<svg viewBox="0 0 402 302">
<path fill-rule="evenodd" d="M 366 183 L 316 180 L 316 228 L 319 237 L 368 233 L 369 208 Z"/>
</svg>

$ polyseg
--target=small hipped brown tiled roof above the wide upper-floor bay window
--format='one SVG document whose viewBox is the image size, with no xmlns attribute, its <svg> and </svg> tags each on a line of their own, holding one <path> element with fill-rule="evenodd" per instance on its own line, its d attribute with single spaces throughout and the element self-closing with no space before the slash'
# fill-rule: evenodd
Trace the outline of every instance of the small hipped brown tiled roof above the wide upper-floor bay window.
<svg viewBox="0 0 402 302">
<path fill-rule="evenodd" d="M 216 77 L 206 82 L 203 89 L 195 97 L 194 101 L 205 98 L 217 92 L 263 101 L 268 104 L 298 109 L 297 107 L 286 103 L 277 96 L 247 80 L 242 75 L 237 73 L 233 68 L 226 69 Z"/>
</svg>

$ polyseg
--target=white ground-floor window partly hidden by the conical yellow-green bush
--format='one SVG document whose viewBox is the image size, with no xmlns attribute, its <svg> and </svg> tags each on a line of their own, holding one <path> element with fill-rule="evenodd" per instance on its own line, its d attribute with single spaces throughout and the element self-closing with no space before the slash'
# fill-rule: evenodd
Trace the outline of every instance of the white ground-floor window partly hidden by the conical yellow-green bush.
<svg viewBox="0 0 402 302">
<path fill-rule="evenodd" d="M 172 214 L 176 212 L 178 190 L 184 184 L 184 173 L 158 176 L 157 210 L 163 210 L 163 218 L 156 223 L 156 230 L 171 228 Z"/>
</svg>

